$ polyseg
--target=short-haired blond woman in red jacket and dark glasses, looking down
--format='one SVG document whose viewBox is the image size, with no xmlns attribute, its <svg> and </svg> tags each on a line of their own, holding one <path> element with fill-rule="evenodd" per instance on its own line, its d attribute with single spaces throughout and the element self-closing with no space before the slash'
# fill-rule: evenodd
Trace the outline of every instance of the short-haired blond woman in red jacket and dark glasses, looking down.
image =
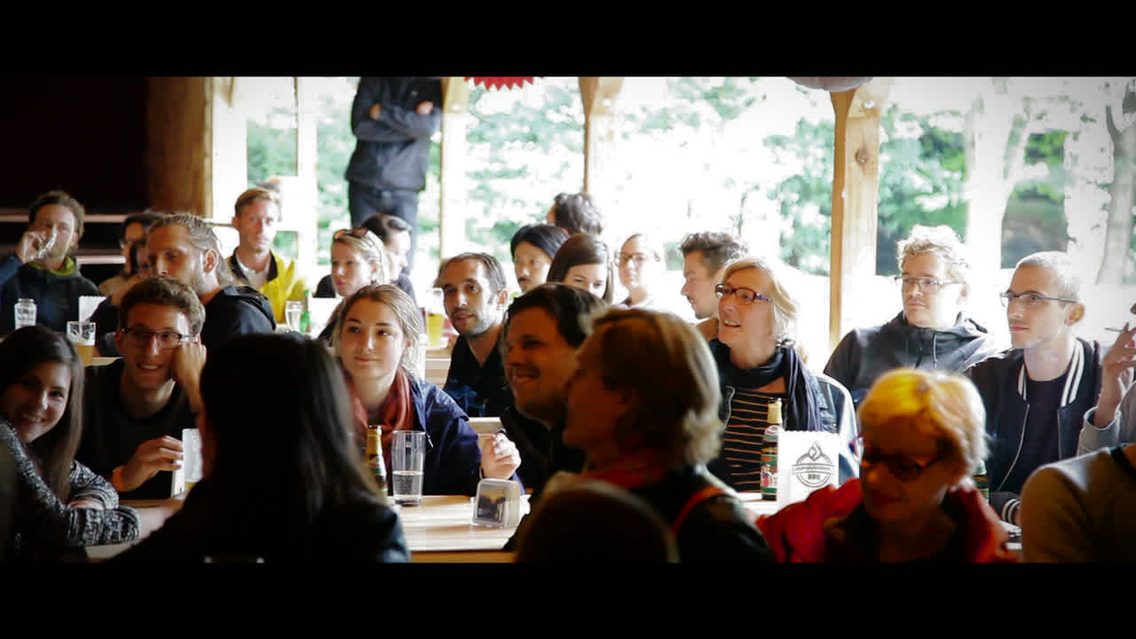
<svg viewBox="0 0 1136 639">
<path fill-rule="evenodd" d="M 975 385 L 899 368 L 860 405 L 860 478 L 758 520 L 779 562 L 1014 562 L 999 516 L 971 482 L 986 457 Z"/>
</svg>

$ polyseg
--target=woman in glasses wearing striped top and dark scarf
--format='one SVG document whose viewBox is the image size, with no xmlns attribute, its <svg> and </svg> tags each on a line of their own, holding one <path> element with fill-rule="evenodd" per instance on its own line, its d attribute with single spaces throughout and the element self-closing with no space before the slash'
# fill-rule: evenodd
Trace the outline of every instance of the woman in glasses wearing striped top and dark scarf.
<svg viewBox="0 0 1136 639">
<path fill-rule="evenodd" d="M 796 301 L 779 269 L 758 257 L 726 266 L 718 296 L 718 337 L 710 351 L 721 382 L 724 445 L 710 470 L 735 490 L 761 490 L 761 447 L 769 406 L 782 401 L 782 428 L 837 432 L 816 376 L 793 347 Z M 842 471 L 853 472 L 842 448 Z"/>
</svg>

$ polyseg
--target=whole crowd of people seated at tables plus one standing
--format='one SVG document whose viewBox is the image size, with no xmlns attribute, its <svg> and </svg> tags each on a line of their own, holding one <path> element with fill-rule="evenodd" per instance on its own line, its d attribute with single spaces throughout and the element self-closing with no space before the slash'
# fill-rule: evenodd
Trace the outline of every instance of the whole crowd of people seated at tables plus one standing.
<svg viewBox="0 0 1136 639">
<path fill-rule="evenodd" d="M 409 280 L 421 185 L 411 169 L 374 173 L 383 123 L 412 130 L 420 160 L 433 86 L 360 85 L 352 227 L 316 290 L 340 301 L 315 334 L 277 330 L 308 274 L 272 250 L 272 189 L 236 199 L 227 257 L 197 215 L 127 217 L 123 272 L 100 285 L 73 256 L 82 205 L 35 199 L 0 258 L 0 561 L 83 561 L 85 546 L 144 538 L 112 561 L 407 562 L 365 466 L 368 430 L 387 464 L 395 431 L 425 433 L 425 495 L 519 482 L 532 509 L 504 549 L 520 562 L 1136 558 L 1136 327 L 1080 338 L 1086 302 L 1058 251 L 1017 264 L 1000 345 L 967 313 L 976 275 L 958 235 L 916 226 L 896 247 L 902 308 L 850 331 L 821 370 L 799 350 L 776 259 L 728 232 L 684 238 L 688 322 L 658 301 L 658 239 L 612 251 L 594 199 L 560 193 L 512 238 L 512 299 L 493 255 L 442 256 L 434 285 L 457 339 L 445 382 L 425 380 Z M 66 325 L 100 293 L 97 348 L 116 359 L 84 368 Z M 20 298 L 35 325 L 15 327 Z M 237 390 L 257 400 L 227 401 Z M 478 438 L 470 417 L 503 428 Z M 834 433 L 840 481 L 757 517 L 738 493 L 762 488 L 771 424 Z M 185 429 L 201 435 L 202 479 L 173 493 Z"/>
</svg>

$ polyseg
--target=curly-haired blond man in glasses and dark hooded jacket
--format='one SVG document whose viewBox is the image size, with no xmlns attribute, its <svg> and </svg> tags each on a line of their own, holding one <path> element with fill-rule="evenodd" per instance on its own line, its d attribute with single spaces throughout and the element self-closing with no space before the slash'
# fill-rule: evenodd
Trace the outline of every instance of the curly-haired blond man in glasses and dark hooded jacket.
<svg viewBox="0 0 1136 639">
<path fill-rule="evenodd" d="M 961 373 L 997 351 L 986 329 L 963 312 L 970 293 L 963 252 L 945 225 L 916 225 L 896 244 L 903 309 L 886 324 L 849 331 L 825 365 L 857 407 L 872 382 L 893 368 Z"/>
</svg>

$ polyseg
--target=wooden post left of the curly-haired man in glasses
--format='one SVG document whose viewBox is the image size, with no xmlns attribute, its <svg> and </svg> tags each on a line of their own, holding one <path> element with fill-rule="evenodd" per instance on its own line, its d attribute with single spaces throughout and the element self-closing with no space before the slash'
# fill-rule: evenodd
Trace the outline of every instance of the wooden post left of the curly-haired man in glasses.
<svg viewBox="0 0 1136 639">
<path fill-rule="evenodd" d="M 828 347 L 853 325 L 859 282 L 876 275 L 879 214 L 879 114 L 892 78 L 877 77 L 852 91 L 830 94 L 836 114 L 833 161 L 832 271 Z"/>
</svg>

